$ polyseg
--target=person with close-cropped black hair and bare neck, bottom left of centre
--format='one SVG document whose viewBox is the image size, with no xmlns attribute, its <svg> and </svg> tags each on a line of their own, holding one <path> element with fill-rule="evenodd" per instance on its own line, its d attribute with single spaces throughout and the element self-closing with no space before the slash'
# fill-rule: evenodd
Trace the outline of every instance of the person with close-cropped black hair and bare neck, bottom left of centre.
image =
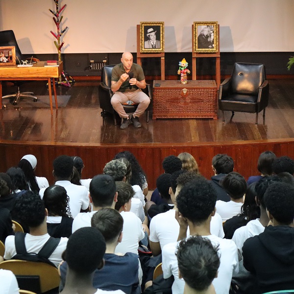
<svg viewBox="0 0 294 294">
<path fill-rule="evenodd" d="M 123 294 L 121 290 L 104 291 L 93 285 L 95 272 L 103 268 L 105 250 L 105 241 L 98 229 L 87 227 L 73 233 L 63 254 L 68 270 L 62 294 Z"/>
</svg>

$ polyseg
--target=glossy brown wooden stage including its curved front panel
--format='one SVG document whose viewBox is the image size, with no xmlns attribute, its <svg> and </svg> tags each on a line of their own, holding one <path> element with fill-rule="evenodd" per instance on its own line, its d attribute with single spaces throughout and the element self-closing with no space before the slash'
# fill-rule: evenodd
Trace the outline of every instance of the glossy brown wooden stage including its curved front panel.
<svg viewBox="0 0 294 294">
<path fill-rule="evenodd" d="M 242 168 L 241 173 L 249 176 L 256 172 L 258 155 L 264 150 L 273 150 L 278 156 L 294 155 L 294 80 L 269 83 L 270 104 L 265 121 L 262 112 L 259 114 L 258 125 L 255 125 L 255 114 L 248 113 L 235 112 L 231 119 L 231 112 L 225 112 L 225 123 L 222 123 L 221 112 L 218 120 L 152 120 L 151 111 L 149 123 L 144 114 L 140 119 L 142 128 L 136 129 L 131 124 L 125 130 L 114 126 L 111 115 L 100 116 L 98 82 L 76 82 L 71 88 L 58 86 L 57 95 L 71 98 L 66 107 L 53 109 L 53 117 L 49 107 L 31 108 L 22 106 L 22 101 L 17 107 L 9 105 L 0 110 L 0 151 L 6 155 L 0 163 L 0 172 L 16 165 L 28 152 L 35 152 L 40 160 L 48 161 L 43 164 L 47 169 L 51 169 L 55 155 L 66 153 L 85 158 L 85 166 L 90 166 L 85 175 L 93 176 L 101 172 L 114 154 L 128 149 L 147 170 L 153 187 L 162 172 L 162 159 L 183 151 L 195 156 L 200 171 L 207 177 L 212 175 L 211 158 L 217 153 L 230 154 L 236 169 Z M 25 83 L 21 88 L 33 91 L 36 96 L 48 95 L 44 82 Z M 13 91 L 14 87 L 3 87 L 3 95 Z M 9 104 L 6 99 L 4 103 Z"/>
</svg>

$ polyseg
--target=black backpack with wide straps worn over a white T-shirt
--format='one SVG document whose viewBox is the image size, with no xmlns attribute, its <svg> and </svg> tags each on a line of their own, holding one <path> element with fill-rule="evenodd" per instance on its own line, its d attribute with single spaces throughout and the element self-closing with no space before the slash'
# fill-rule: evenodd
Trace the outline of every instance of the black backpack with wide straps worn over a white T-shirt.
<svg viewBox="0 0 294 294">
<path fill-rule="evenodd" d="M 26 261 L 34 261 L 34 262 L 45 262 L 53 267 L 56 266 L 49 261 L 49 257 L 58 246 L 60 242 L 60 238 L 50 237 L 45 245 L 41 248 L 38 253 L 27 252 L 25 248 L 25 235 L 26 233 L 16 232 L 15 233 L 15 249 L 16 255 L 14 255 L 11 259 L 20 259 Z"/>
</svg>

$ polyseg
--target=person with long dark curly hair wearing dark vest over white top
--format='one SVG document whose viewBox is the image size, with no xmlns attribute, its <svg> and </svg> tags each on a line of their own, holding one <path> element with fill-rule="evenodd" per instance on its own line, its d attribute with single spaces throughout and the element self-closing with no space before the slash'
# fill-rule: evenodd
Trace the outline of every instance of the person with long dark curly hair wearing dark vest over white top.
<svg viewBox="0 0 294 294">
<path fill-rule="evenodd" d="M 64 187 L 49 186 L 43 196 L 45 207 L 48 210 L 47 229 L 54 238 L 72 235 L 73 218 L 69 206 L 70 197 Z"/>
</svg>

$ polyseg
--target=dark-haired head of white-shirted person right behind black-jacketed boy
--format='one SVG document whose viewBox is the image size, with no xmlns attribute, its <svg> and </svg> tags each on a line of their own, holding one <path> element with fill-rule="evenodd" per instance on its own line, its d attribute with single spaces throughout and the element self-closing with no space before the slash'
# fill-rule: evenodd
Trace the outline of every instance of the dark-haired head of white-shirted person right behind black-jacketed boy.
<svg viewBox="0 0 294 294">
<path fill-rule="evenodd" d="M 229 172 L 222 179 L 221 186 L 233 199 L 242 198 L 247 189 L 245 178 L 238 172 Z"/>
</svg>

